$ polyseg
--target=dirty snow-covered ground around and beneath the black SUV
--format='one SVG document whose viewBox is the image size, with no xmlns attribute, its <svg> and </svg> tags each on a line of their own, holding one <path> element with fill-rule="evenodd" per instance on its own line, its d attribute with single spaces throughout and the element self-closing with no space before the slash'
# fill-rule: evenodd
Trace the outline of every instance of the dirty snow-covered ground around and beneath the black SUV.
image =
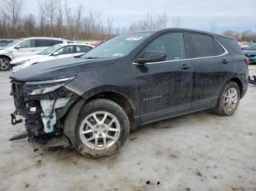
<svg viewBox="0 0 256 191">
<path fill-rule="evenodd" d="M 146 125 L 120 153 L 95 160 L 8 141 L 24 130 L 10 124 L 9 75 L 0 72 L 0 190 L 256 190 L 255 85 L 232 117 L 199 112 Z"/>
</svg>

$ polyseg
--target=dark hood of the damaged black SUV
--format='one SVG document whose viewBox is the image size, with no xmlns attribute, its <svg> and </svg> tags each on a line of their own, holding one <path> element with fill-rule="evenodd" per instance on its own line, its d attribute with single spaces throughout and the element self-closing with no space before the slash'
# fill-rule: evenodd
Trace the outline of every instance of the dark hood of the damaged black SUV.
<svg viewBox="0 0 256 191">
<path fill-rule="evenodd" d="M 21 82 L 39 81 L 72 77 L 79 71 L 95 69 L 97 67 L 114 63 L 117 59 L 85 59 L 85 58 L 61 58 L 46 61 L 29 66 L 13 73 L 10 79 Z"/>
</svg>

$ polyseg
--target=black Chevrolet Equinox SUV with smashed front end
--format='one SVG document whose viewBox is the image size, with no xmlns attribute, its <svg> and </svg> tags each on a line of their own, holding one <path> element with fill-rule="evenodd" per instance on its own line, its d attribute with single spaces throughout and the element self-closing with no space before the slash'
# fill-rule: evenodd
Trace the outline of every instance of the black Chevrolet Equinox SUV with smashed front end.
<svg viewBox="0 0 256 191">
<path fill-rule="evenodd" d="M 116 36 L 80 58 L 48 61 L 10 77 L 15 115 L 30 141 L 113 155 L 131 130 L 182 114 L 236 112 L 248 66 L 234 39 L 181 28 Z"/>
</svg>

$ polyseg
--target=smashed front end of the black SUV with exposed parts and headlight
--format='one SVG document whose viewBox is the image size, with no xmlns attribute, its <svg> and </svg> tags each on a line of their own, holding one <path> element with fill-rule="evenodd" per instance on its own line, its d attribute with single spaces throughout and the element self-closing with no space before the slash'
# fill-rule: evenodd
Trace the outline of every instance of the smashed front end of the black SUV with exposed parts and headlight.
<svg viewBox="0 0 256 191">
<path fill-rule="evenodd" d="M 12 137 L 10 141 L 29 136 L 29 141 L 47 143 L 47 147 L 68 147 L 64 136 L 64 116 L 79 95 L 64 87 L 75 77 L 35 82 L 19 82 L 12 79 L 15 112 L 11 114 L 12 125 L 22 122 L 16 115 L 25 118 L 26 132 Z"/>
</svg>

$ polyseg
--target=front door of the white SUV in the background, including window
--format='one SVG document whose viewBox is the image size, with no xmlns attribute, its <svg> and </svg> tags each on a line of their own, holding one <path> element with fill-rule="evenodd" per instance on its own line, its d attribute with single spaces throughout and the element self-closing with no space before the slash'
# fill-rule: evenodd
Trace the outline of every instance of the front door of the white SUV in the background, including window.
<svg viewBox="0 0 256 191">
<path fill-rule="evenodd" d="M 20 47 L 12 50 L 12 58 L 20 56 L 35 55 L 37 48 L 34 45 L 34 39 L 26 39 L 18 44 Z"/>
</svg>

